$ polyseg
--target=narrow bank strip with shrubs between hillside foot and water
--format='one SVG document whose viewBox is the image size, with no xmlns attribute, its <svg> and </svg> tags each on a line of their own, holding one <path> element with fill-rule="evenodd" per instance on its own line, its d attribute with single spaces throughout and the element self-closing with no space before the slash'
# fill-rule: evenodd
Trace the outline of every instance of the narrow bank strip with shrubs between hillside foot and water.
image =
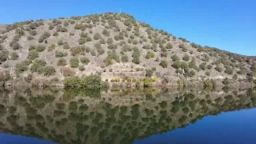
<svg viewBox="0 0 256 144">
<path fill-rule="evenodd" d="M 67 82 L 67 80 L 70 80 L 70 82 Z M 10 79 L 6 82 L 0 82 L 0 86 L 2 87 L 57 87 L 60 89 L 63 89 L 65 87 L 81 87 L 78 86 L 78 82 L 75 83 L 74 79 L 78 78 L 66 78 L 64 80 L 59 80 L 58 78 L 33 78 L 31 80 L 26 79 Z M 82 81 L 82 79 L 81 79 Z M 194 81 L 191 79 L 180 79 L 180 80 L 170 80 L 169 82 L 166 82 L 164 80 L 158 80 L 155 78 L 139 78 L 139 79 L 122 79 L 119 78 L 112 79 L 110 81 L 102 81 L 104 82 L 104 85 L 107 85 L 107 87 L 110 87 L 110 89 L 126 89 L 126 88 L 144 88 L 144 87 L 170 87 L 170 86 L 182 86 L 182 87 L 195 87 L 195 88 L 214 88 L 214 87 L 223 87 L 228 86 L 231 88 L 236 87 L 250 87 L 255 86 L 254 82 L 248 82 L 246 79 L 206 79 L 206 80 L 198 80 Z M 73 86 L 74 85 L 74 86 Z M 87 84 L 88 85 L 88 84 Z"/>
</svg>

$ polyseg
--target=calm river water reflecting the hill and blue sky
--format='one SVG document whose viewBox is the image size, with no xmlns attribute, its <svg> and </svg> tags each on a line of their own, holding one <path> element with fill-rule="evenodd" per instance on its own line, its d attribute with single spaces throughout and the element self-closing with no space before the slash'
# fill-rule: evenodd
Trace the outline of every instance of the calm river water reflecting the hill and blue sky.
<svg viewBox="0 0 256 144">
<path fill-rule="evenodd" d="M 256 143 L 256 90 L 0 90 L 0 142 Z"/>
</svg>

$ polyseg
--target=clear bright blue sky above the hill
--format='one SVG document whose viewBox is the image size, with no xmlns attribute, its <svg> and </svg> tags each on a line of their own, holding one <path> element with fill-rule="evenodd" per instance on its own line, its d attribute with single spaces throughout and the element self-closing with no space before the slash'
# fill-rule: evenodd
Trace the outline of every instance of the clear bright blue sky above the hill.
<svg viewBox="0 0 256 144">
<path fill-rule="evenodd" d="M 3 0 L 0 23 L 119 12 L 120 8 L 177 38 L 256 55 L 255 0 Z"/>
</svg>

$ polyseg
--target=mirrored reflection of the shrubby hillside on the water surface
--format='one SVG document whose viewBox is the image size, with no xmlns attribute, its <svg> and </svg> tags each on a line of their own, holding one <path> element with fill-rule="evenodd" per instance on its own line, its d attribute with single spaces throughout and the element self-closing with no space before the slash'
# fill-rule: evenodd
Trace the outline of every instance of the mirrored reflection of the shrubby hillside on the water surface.
<svg viewBox="0 0 256 144">
<path fill-rule="evenodd" d="M 1 91 L 0 131 L 59 143 L 132 143 L 206 115 L 254 107 L 253 90 Z M 76 96 L 77 95 L 77 96 Z"/>
</svg>

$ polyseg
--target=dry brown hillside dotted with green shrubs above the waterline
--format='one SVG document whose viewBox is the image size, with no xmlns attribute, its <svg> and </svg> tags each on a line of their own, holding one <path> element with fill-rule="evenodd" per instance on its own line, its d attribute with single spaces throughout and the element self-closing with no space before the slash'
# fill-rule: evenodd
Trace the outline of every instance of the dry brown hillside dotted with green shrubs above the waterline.
<svg viewBox="0 0 256 144">
<path fill-rule="evenodd" d="M 176 38 L 129 14 L 30 20 L 0 30 L 5 82 L 53 83 L 97 72 L 107 82 L 150 77 L 158 84 L 185 85 L 208 78 L 252 82 L 256 75 L 256 57 Z"/>
</svg>

